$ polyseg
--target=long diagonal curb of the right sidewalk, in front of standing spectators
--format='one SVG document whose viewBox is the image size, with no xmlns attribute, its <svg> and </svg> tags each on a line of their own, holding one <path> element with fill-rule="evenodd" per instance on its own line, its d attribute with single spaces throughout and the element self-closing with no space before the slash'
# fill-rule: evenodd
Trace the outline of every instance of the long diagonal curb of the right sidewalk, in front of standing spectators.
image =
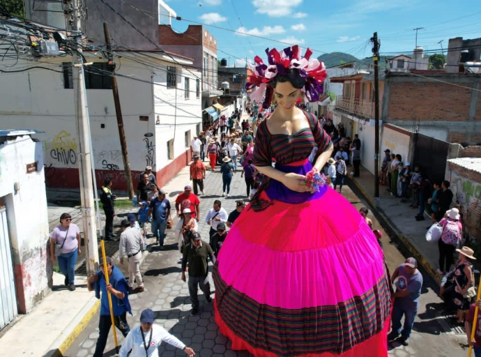
<svg viewBox="0 0 481 357">
<path fill-rule="evenodd" d="M 427 273 L 431 276 L 431 278 L 435 282 L 440 283 L 441 277 L 438 275 L 438 273 L 436 273 L 436 268 L 434 268 L 431 264 L 429 264 L 429 261 L 427 261 L 427 259 L 425 259 L 425 257 L 423 257 L 420 254 L 420 252 L 418 252 L 418 250 L 413 246 L 411 241 L 409 241 L 409 238 L 404 234 L 402 234 L 402 232 L 399 231 L 399 229 L 397 229 L 394 222 L 392 222 L 392 220 L 388 218 L 387 215 L 385 215 L 384 211 L 381 208 L 379 208 L 379 206 L 376 203 L 376 199 L 371 195 L 369 195 L 369 192 L 367 192 L 367 190 L 356 179 L 352 179 L 352 178 L 350 179 L 351 179 L 351 182 L 354 185 L 356 185 L 356 188 L 360 190 L 363 198 L 366 199 L 367 202 L 369 202 L 372 208 L 376 208 L 376 213 L 378 213 L 379 215 L 378 220 L 381 223 L 381 225 L 383 227 L 388 228 L 389 231 L 392 231 L 392 233 L 395 234 L 395 236 L 399 239 L 399 241 L 401 241 L 404 244 L 407 250 L 411 252 L 411 255 L 418 261 L 418 264 L 420 264 L 420 266 L 422 266 L 422 268 L 424 268 L 425 271 L 427 271 Z"/>
</svg>

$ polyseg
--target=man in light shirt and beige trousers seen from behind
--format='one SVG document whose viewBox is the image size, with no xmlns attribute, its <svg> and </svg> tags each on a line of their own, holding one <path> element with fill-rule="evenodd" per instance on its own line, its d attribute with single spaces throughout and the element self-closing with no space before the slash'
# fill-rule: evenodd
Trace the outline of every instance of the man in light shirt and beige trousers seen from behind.
<svg viewBox="0 0 481 357">
<path fill-rule="evenodd" d="M 144 241 L 139 229 L 133 227 L 133 224 L 128 220 L 122 220 L 122 234 L 119 245 L 120 262 L 123 264 L 123 257 L 127 255 L 128 261 L 128 284 L 130 289 L 134 287 L 134 278 L 137 281 L 137 287 L 132 290 L 133 293 L 141 293 L 144 291 L 144 282 L 142 282 L 142 275 L 140 274 L 140 258 L 142 257 L 142 245 Z"/>
</svg>

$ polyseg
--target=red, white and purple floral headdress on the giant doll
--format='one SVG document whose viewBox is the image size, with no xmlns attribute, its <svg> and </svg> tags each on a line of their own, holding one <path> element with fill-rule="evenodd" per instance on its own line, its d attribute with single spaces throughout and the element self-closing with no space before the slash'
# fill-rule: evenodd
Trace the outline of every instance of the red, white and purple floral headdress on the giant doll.
<svg viewBox="0 0 481 357">
<path fill-rule="evenodd" d="M 312 50 L 307 48 L 304 56 L 301 56 L 298 45 L 284 48 L 281 52 L 275 48 L 266 49 L 268 65 L 259 56 L 254 57 L 255 65 L 249 67 L 254 74 L 250 75 L 250 82 L 247 82 L 246 89 L 257 89 L 250 94 L 254 102 L 263 102 L 262 107 L 268 108 L 273 97 L 273 88 L 268 86 L 277 75 L 284 75 L 290 68 L 297 68 L 299 75 L 305 79 L 303 92 L 310 102 L 319 100 L 323 93 L 323 82 L 328 76 L 326 66 L 318 59 L 311 59 Z"/>
</svg>

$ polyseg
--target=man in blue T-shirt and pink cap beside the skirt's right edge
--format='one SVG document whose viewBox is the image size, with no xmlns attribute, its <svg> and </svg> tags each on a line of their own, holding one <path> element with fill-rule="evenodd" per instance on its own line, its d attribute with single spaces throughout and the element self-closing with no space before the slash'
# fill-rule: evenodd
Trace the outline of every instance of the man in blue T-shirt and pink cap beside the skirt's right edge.
<svg viewBox="0 0 481 357">
<path fill-rule="evenodd" d="M 412 257 L 406 259 L 404 264 L 398 266 L 392 274 L 393 284 L 395 280 L 397 280 L 396 292 L 392 294 L 394 305 L 392 306 L 391 332 L 388 335 L 388 341 L 396 340 L 403 346 L 407 346 L 414 319 L 418 314 L 419 296 L 421 295 L 422 275 L 418 271 L 418 261 Z M 403 315 L 404 327 L 401 328 Z"/>
</svg>

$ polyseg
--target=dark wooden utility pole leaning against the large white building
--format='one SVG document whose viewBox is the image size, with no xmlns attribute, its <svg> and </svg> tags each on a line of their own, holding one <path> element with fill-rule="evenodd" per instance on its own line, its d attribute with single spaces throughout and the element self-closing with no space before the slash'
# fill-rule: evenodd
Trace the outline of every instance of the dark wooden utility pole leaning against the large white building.
<svg viewBox="0 0 481 357">
<path fill-rule="evenodd" d="M 109 59 L 109 69 L 112 70 L 112 92 L 114 93 L 115 114 L 117 116 L 117 126 L 119 127 L 119 137 L 121 140 L 123 168 L 125 171 L 125 181 L 127 182 L 128 197 L 134 197 L 134 186 L 132 184 L 132 174 L 130 173 L 130 161 L 128 160 L 127 141 L 125 140 L 125 130 L 123 128 L 122 108 L 119 98 L 119 87 L 117 86 L 117 78 L 113 75 L 115 72 L 114 56 L 112 55 L 112 44 L 110 43 L 110 34 L 107 22 L 104 22 L 105 44 L 107 45 L 107 56 Z"/>
</svg>

